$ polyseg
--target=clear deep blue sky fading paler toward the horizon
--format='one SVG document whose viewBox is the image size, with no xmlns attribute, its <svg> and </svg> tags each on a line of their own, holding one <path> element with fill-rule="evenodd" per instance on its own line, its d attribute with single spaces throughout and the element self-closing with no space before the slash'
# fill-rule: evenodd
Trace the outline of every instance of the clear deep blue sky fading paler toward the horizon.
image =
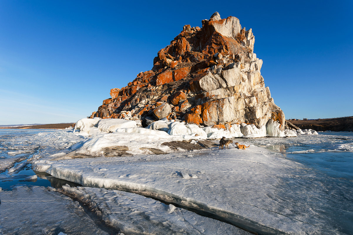
<svg viewBox="0 0 353 235">
<path fill-rule="evenodd" d="M 286 118 L 353 115 L 353 1 L 0 1 L 0 125 L 76 122 L 185 24 L 252 28 Z"/>
</svg>

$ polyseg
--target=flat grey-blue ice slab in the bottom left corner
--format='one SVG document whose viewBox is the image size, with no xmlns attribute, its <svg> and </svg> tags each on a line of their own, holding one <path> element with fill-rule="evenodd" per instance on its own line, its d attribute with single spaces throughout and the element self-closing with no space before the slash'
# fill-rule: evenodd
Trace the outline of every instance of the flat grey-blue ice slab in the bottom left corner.
<svg viewBox="0 0 353 235">
<path fill-rule="evenodd" d="M 98 226 L 76 201 L 44 187 L 19 186 L 0 192 L 0 197 L 0 234 L 108 235 L 112 232 L 111 228 Z"/>
</svg>

